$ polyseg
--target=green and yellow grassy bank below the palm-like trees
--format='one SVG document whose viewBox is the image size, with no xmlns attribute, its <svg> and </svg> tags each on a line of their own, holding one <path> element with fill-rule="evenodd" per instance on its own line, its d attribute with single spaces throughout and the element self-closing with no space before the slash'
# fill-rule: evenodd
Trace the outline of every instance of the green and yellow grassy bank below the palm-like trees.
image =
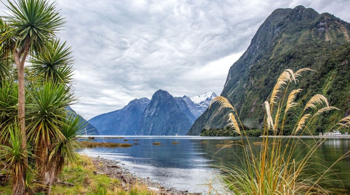
<svg viewBox="0 0 350 195">
<path fill-rule="evenodd" d="M 131 186 L 122 186 L 119 179 L 109 178 L 107 175 L 94 174 L 97 167 L 92 163 L 92 159 L 86 156 L 79 156 L 79 164 L 76 166 L 65 166 L 59 180 L 69 182 L 74 186 L 56 183 L 52 187 L 52 194 L 85 194 L 85 195 L 153 195 L 156 194 L 147 189 L 146 185 L 135 183 Z M 10 195 L 11 186 L 0 186 L 0 194 Z"/>
</svg>

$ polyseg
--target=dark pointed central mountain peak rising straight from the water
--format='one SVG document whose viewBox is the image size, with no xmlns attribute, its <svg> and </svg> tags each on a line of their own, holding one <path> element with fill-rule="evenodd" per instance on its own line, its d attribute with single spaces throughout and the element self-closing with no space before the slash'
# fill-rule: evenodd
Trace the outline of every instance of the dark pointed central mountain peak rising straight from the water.
<svg viewBox="0 0 350 195">
<path fill-rule="evenodd" d="M 186 103 L 176 99 L 167 91 L 156 91 L 142 113 L 136 135 L 185 135 L 195 118 L 188 115 Z"/>
</svg>

